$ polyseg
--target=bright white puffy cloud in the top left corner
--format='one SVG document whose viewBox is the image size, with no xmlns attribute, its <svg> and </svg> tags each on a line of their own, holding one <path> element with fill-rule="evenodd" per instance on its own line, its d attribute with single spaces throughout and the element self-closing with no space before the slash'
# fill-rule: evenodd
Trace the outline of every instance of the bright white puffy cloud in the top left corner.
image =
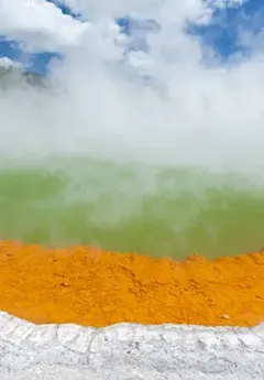
<svg viewBox="0 0 264 380">
<path fill-rule="evenodd" d="M 31 51 L 57 51 L 78 42 L 86 25 L 45 0 L 1 0 L 0 34 Z"/>
</svg>

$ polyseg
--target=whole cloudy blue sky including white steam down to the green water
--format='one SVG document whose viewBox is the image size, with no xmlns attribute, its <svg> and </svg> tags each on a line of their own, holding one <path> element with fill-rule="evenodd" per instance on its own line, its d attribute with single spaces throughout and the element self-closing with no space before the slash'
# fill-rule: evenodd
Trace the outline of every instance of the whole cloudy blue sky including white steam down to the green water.
<svg viewBox="0 0 264 380">
<path fill-rule="evenodd" d="M 264 183 L 263 13 L 261 0 L 1 0 L 0 55 L 48 75 L 53 91 L 0 97 L 0 151 Z"/>
</svg>

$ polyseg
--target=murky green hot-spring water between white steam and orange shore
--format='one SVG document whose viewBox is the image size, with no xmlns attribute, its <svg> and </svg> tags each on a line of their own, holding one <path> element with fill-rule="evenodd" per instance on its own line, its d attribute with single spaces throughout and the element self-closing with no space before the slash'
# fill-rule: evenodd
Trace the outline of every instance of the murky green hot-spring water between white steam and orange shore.
<svg viewBox="0 0 264 380">
<path fill-rule="evenodd" d="M 0 238 L 183 259 L 264 246 L 264 186 L 190 167 L 88 159 L 1 164 Z"/>
</svg>

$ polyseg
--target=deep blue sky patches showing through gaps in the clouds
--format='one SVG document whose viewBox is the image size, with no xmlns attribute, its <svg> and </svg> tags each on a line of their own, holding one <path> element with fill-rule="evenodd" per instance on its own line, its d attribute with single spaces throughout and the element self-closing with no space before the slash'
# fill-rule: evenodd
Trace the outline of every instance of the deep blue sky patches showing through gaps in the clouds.
<svg viewBox="0 0 264 380">
<path fill-rule="evenodd" d="M 48 0 L 53 2 L 52 0 Z M 70 9 L 61 7 L 63 13 L 73 14 Z M 125 33 L 130 32 L 131 20 L 123 18 L 117 21 L 123 26 Z M 241 28 L 257 32 L 264 26 L 264 1 L 248 0 L 240 8 L 228 8 L 215 12 L 210 25 L 189 25 L 189 32 L 199 36 L 201 42 L 213 47 L 216 53 L 224 61 L 237 52 L 243 52 L 240 45 L 238 32 Z M 0 56 L 8 56 L 24 64 L 25 69 L 45 74 L 47 65 L 55 54 L 42 52 L 38 54 L 26 54 L 15 41 L 7 41 L 6 36 L 0 36 Z"/>
</svg>

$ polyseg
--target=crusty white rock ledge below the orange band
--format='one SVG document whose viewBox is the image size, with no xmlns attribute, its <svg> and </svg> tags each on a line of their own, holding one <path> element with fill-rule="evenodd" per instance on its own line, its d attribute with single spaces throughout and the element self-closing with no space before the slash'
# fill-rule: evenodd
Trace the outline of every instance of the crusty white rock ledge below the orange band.
<svg viewBox="0 0 264 380">
<path fill-rule="evenodd" d="M 255 328 L 42 325 L 0 313 L 1 380 L 261 380 Z"/>
</svg>

